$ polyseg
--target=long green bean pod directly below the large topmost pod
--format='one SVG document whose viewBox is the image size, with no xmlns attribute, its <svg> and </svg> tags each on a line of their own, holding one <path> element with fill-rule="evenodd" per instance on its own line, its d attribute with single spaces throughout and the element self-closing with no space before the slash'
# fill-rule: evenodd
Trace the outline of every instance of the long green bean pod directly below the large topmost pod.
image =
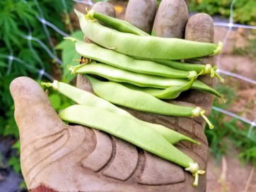
<svg viewBox="0 0 256 192">
<path fill-rule="evenodd" d="M 120 54 L 113 50 L 99 47 L 96 44 L 76 40 L 72 37 L 66 37 L 65 39 L 71 40 L 75 43 L 76 52 L 81 54 L 81 56 L 103 62 L 104 64 L 108 64 L 110 66 L 122 68 L 127 71 L 165 76 L 169 78 L 197 78 L 196 71 L 180 71 L 168 66 L 157 64 L 153 61 L 137 60 L 125 54 Z"/>
</svg>

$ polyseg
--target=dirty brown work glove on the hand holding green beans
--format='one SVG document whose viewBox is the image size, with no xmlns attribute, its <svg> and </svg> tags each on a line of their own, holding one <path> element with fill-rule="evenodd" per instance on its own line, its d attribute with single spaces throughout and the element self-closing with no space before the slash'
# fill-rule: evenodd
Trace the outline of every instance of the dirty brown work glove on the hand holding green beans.
<svg viewBox="0 0 256 192">
<path fill-rule="evenodd" d="M 115 10 L 107 3 L 95 4 L 93 9 L 115 16 Z M 130 0 L 125 18 L 150 32 L 155 14 L 156 1 Z M 187 18 L 185 1 L 163 0 L 154 24 L 156 35 L 213 42 L 214 25 L 210 16 L 199 13 L 188 21 Z M 164 28 L 163 23 L 169 27 Z M 213 57 L 197 62 L 212 64 Z M 214 84 L 209 75 L 199 80 L 210 86 Z M 83 76 L 78 76 L 77 87 L 91 91 Z M 206 174 L 199 176 L 199 186 L 194 187 L 194 177 L 177 164 L 102 131 L 64 124 L 34 80 L 16 78 L 10 90 L 21 138 L 21 168 L 30 191 L 206 191 Z M 213 97 L 189 90 L 177 101 L 202 107 L 209 115 Z M 191 119 L 127 110 L 139 119 L 167 126 L 199 141 L 201 145 L 182 141 L 175 146 L 206 170 L 208 143 L 202 117 Z"/>
</svg>

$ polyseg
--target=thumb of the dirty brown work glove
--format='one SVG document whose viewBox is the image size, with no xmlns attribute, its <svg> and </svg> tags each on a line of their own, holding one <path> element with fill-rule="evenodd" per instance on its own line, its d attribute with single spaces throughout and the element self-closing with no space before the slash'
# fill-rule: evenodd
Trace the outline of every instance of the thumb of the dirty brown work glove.
<svg viewBox="0 0 256 192">
<path fill-rule="evenodd" d="M 28 77 L 16 78 L 11 82 L 10 91 L 22 145 L 38 136 L 47 136 L 62 130 L 63 126 L 60 125 L 64 123 L 35 80 Z"/>
</svg>

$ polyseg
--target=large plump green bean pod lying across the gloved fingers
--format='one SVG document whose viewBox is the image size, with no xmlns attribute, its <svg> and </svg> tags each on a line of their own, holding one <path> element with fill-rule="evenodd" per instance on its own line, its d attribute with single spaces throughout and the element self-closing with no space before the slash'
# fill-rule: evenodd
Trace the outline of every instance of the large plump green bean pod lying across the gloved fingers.
<svg viewBox="0 0 256 192">
<path fill-rule="evenodd" d="M 76 11 L 83 33 L 107 49 L 130 56 L 149 59 L 191 59 L 221 52 L 222 43 L 193 42 L 176 38 L 139 36 L 118 32 L 100 25 L 96 20 Z"/>
</svg>

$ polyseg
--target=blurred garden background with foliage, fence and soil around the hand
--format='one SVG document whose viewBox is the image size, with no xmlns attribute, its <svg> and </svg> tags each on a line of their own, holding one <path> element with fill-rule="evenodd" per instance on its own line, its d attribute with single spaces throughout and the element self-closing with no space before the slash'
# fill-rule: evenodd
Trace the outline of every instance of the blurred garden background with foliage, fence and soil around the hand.
<svg viewBox="0 0 256 192">
<path fill-rule="evenodd" d="M 9 92 L 11 80 L 29 76 L 41 81 L 75 83 L 67 65 L 77 65 L 74 44 L 63 37 L 83 39 L 74 8 L 86 12 L 98 1 L 0 1 L 0 191 L 27 191 L 21 175 L 18 128 Z M 117 18 L 124 18 L 127 1 L 108 1 Z M 159 3 L 161 1 L 158 1 Z M 187 0 L 190 15 L 214 18 L 215 41 L 223 42 L 217 56 L 224 83 L 216 89 L 226 104 L 214 100 L 206 128 L 210 146 L 207 191 L 256 191 L 256 1 Z M 54 109 L 71 102 L 50 92 Z"/>
</svg>

